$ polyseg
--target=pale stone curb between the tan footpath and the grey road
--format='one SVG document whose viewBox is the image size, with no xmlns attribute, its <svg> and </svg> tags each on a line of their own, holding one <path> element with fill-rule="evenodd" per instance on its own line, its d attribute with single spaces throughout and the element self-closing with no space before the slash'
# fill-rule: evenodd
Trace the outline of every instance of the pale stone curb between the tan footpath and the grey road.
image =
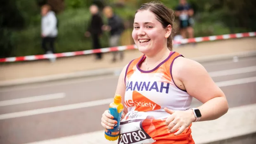
<svg viewBox="0 0 256 144">
<path fill-rule="evenodd" d="M 236 52 L 232 54 L 220 54 L 220 55 L 207 56 L 207 57 L 197 57 L 197 58 L 191 58 L 191 59 L 199 63 L 202 63 L 202 62 L 219 61 L 219 60 L 226 60 L 226 59 L 235 60 L 237 58 L 252 57 L 252 56 L 256 56 L 256 50 L 247 51 L 247 52 Z M 42 82 L 49 82 L 49 81 L 55 81 L 55 80 L 65 80 L 70 78 L 95 77 L 95 76 L 102 76 L 102 75 L 119 76 L 122 69 L 123 67 L 104 68 L 104 69 L 80 71 L 80 72 L 74 72 L 74 73 L 64 73 L 64 74 L 42 76 L 42 77 L 35 77 L 35 78 L 6 80 L 6 81 L 0 81 L 0 87 L 23 85 L 23 84 L 29 84 L 29 83 L 42 83 Z"/>
</svg>

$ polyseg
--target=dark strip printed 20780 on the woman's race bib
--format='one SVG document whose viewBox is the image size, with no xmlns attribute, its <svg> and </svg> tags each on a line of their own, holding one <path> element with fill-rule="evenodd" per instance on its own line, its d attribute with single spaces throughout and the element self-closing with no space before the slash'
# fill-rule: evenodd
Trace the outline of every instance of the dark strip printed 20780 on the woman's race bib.
<svg viewBox="0 0 256 144">
<path fill-rule="evenodd" d="M 151 139 L 151 137 L 142 130 L 136 130 L 119 135 L 118 144 L 143 144 L 142 141 L 146 139 Z"/>
</svg>

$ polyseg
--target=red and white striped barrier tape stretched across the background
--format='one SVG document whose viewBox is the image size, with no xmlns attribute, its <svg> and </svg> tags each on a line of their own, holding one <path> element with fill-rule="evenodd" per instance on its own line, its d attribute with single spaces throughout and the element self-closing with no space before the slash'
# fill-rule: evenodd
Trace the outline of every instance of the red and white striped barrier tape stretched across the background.
<svg viewBox="0 0 256 144">
<path fill-rule="evenodd" d="M 206 37 L 182 39 L 180 41 L 173 41 L 173 44 L 186 44 L 186 43 L 193 43 L 193 42 L 205 42 L 205 41 L 213 41 L 213 40 L 225 40 L 225 39 L 232 39 L 232 38 L 244 38 L 244 37 L 254 37 L 254 36 L 256 36 L 256 32 L 235 33 L 235 34 L 227 34 L 227 35 L 213 35 L 213 36 L 206 36 Z M 84 55 L 84 54 L 94 54 L 99 52 L 104 53 L 104 52 L 114 52 L 114 51 L 133 50 L 133 49 L 137 49 L 136 45 L 107 47 L 107 48 L 101 48 L 101 49 L 95 49 L 95 50 L 64 52 L 64 53 L 57 53 L 57 54 L 41 54 L 41 55 L 31 55 L 31 56 L 24 56 L 24 57 L 7 57 L 7 58 L 1 58 L 0 62 L 33 61 L 38 59 L 71 57 L 71 56 Z"/>
</svg>

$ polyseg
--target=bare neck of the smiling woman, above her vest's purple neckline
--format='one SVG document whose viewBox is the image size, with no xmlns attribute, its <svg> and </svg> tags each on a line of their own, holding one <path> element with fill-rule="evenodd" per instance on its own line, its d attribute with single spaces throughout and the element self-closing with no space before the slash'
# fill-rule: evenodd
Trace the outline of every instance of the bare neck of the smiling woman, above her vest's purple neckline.
<svg viewBox="0 0 256 144">
<path fill-rule="evenodd" d="M 146 63 L 147 64 L 154 64 L 156 61 L 160 61 L 161 59 L 166 59 L 170 54 L 170 50 L 168 48 L 164 48 L 161 51 L 152 54 L 152 55 L 146 55 Z"/>
</svg>

